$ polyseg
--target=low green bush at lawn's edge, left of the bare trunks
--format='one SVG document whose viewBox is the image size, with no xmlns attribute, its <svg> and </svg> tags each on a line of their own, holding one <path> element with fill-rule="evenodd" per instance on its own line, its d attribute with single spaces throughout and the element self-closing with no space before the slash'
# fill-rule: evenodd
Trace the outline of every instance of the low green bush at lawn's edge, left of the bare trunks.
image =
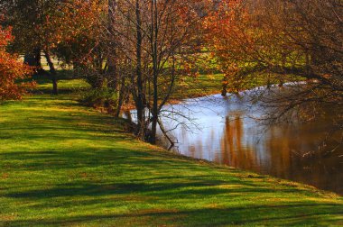
<svg viewBox="0 0 343 227">
<path fill-rule="evenodd" d="M 97 109 L 105 109 L 108 113 L 114 113 L 118 106 L 118 95 L 111 88 L 93 88 L 81 95 L 80 102 Z"/>
</svg>

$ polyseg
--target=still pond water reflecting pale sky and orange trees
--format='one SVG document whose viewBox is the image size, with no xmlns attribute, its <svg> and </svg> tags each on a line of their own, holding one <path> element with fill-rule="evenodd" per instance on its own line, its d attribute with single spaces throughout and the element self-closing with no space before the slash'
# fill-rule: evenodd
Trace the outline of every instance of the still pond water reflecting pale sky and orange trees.
<svg viewBox="0 0 343 227">
<path fill-rule="evenodd" d="M 175 114 L 179 113 L 179 114 Z M 290 179 L 343 195 L 343 148 L 335 141 L 319 151 L 329 119 L 265 126 L 262 108 L 245 95 L 211 95 L 164 109 L 174 151 L 196 159 Z M 186 120 L 184 117 L 187 117 Z M 175 121 L 176 120 L 176 121 Z M 160 145 L 168 148 L 162 138 Z"/>
</svg>

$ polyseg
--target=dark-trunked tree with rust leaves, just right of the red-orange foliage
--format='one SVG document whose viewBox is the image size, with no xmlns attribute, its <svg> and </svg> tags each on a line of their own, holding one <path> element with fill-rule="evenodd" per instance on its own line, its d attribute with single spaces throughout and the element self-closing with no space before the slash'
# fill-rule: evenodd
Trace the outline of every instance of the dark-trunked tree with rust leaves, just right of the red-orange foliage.
<svg viewBox="0 0 343 227">
<path fill-rule="evenodd" d="M 32 59 L 32 65 L 38 68 L 42 68 L 40 59 L 43 53 L 50 68 L 49 72 L 45 73 L 51 76 L 53 94 L 57 95 L 58 77 L 53 59 L 57 53 L 61 53 L 58 47 L 61 47 L 61 43 L 74 44 L 75 42 L 71 42 L 71 39 L 76 40 L 76 34 L 84 28 L 83 25 L 89 21 L 92 22 L 92 18 L 79 14 L 78 0 L 5 0 L 3 2 L 3 11 L 6 14 L 5 24 L 14 28 L 14 36 L 17 37 L 12 49 L 25 54 L 27 57 L 25 59 L 28 61 Z M 88 5 L 91 5 L 90 2 L 93 1 L 87 2 Z M 69 13 L 76 13 L 64 14 L 67 12 L 66 8 L 70 9 Z M 84 9 L 81 12 L 85 13 Z M 69 17 L 74 15 L 78 17 Z M 84 50 L 81 46 L 77 47 Z M 73 48 L 73 50 L 76 49 Z"/>
</svg>

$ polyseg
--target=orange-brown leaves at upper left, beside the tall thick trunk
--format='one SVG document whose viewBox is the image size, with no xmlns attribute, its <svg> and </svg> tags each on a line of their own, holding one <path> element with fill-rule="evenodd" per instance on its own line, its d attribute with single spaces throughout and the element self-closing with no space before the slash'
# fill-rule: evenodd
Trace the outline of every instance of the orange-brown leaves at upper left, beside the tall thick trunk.
<svg viewBox="0 0 343 227">
<path fill-rule="evenodd" d="M 53 35 L 47 37 L 51 51 L 68 63 L 88 61 L 88 54 L 107 29 L 106 6 L 102 1 L 81 0 L 58 5 L 45 25 L 47 30 L 53 31 Z"/>
</svg>

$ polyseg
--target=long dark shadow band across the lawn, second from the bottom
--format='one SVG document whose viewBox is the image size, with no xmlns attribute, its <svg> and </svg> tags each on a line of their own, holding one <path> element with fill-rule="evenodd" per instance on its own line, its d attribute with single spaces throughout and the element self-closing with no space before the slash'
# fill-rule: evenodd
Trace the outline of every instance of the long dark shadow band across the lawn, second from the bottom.
<svg viewBox="0 0 343 227">
<path fill-rule="evenodd" d="M 181 177 L 182 179 L 182 177 Z M 226 197 L 237 195 L 266 195 L 273 194 L 273 189 L 261 186 L 249 186 L 251 184 L 242 181 L 216 181 L 216 180 L 197 180 L 184 183 L 115 183 L 115 184 L 65 184 L 51 189 L 41 189 L 26 191 L 24 193 L 9 193 L 6 197 L 30 198 L 34 200 L 56 198 L 63 196 L 98 196 L 98 195 L 159 195 L 167 199 L 177 193 L 178 198 L 203 196 L 218 196 L 225 194 Z M 242 186 L 242 188 L 219 188 L 218 186 Z M 297 189 L 280 189 L 279 194 L 299 193 Z"/>
</svg>

